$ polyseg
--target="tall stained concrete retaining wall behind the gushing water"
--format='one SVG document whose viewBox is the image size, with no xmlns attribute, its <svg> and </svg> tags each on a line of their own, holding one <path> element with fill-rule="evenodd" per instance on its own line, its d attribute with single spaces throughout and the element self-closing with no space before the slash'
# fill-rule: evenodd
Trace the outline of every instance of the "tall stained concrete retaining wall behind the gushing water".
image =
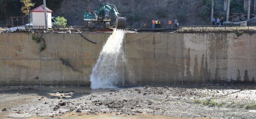
<svg viewBox="0 0 256 119">
<path fill-rule="evenodd" d="M 83 34 L 97 44 L 79 34 L 35 34 L 42 35 L 47 45 L 42 52 L 32 34 L 0 35 L 0 86 L 90 85 L 92 67 L 111 33 Z M 127 33 L 125 83 L 252 83 L 255 37 L 247 33 L 239 37 L 233 33 Z"/>
</svg>

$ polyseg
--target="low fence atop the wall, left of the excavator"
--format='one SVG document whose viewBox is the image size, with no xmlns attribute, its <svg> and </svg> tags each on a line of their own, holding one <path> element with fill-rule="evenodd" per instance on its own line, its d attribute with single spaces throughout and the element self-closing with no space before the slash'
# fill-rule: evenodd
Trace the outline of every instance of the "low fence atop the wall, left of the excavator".
<svg viewBox="0 0 256 119">
<path fill-rule="evenodd" d="M 35 30 L 35 31 L 43 31 L 46 29 L 45 26 L 15 26 L 8 28 L 8 26 L 0 26 L 0 31 L 16 31 L 17 29 L 20 30 Z M 77 29 L 82 29 L 85 28 L 85 26 L 47 26 L 49 31 L 65 31 L 65 30 L 76 30 Z"/>
</svg>

